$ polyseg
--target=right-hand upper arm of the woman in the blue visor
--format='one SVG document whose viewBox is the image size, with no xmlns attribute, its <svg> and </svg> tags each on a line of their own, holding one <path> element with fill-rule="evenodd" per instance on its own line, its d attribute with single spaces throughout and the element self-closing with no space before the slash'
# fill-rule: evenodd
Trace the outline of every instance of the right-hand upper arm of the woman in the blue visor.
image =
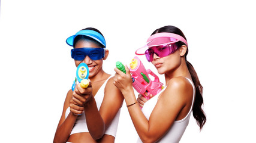
<svg viewBox="0 0 256 143">
<path fill-rule="evenodd" d="M 123 101 L 122 92 L 113 84 L 113 77 L 111 77 L 106 83 L 104 98 L 100 107 L 100 114 L 106 126 L 109 126 L 110 122 L 112 122 L 116 113 L 122 107 Z"/>
</svg>

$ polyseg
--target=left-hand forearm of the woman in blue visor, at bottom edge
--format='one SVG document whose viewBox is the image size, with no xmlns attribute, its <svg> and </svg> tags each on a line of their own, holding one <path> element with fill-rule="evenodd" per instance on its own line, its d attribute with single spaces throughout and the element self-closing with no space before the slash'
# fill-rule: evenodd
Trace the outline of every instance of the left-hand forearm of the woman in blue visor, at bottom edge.
<svg viewBox="0 0 256 143">
<path fill-rule="evenodd" d="M 73 113 L 68 114 L 67 119 L 56 130 L 53 142 L 67 142 L 76 119 L 77 115 Z"/>
</svg>

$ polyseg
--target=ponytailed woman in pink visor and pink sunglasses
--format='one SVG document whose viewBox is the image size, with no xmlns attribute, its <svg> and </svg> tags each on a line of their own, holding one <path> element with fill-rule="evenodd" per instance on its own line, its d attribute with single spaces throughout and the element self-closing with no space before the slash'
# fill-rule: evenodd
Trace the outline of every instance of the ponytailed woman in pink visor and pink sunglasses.
<svg viewBox="0 0 256 143">
<path fill-rule="evenodd" d="M 201 108 L 203 87 L 186 60 L 188 43 L 182 31 L 174 26 L 156 29 L 146 46 L 135 54 L 146 55 L 158 73 L 165 76 L 165 88 L 161 92 L 148 101 L 139 95 L 137 101 L 128 67 L 125 66 L 126 74 L 115 68 L 114 85 L 124 95 L 138 142 L 179 142 L 192 111 L 201 130 L 206 123 Z"/>
</svg>

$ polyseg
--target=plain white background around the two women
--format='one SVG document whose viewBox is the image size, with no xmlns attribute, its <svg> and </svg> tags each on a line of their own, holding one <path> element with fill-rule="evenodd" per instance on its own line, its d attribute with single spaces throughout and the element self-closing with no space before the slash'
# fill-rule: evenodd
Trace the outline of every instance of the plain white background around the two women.
<svg viewBox="0 0 256 143">
<path fill-rule="evenodd" d="M 204 87 L 206 125 L 200 132 L 191 116 L 180 142 L 256 142 L 255 13 L 253 1 L 2 0 L 0 142 L 53 141 L 76 72 L 68 36 L 99 29 L 110 51 L 103 68 L 114 74 L 166 25 L 185 34 Z M 135 141 L 124 104 L 116 142 Z"/>
</svg>

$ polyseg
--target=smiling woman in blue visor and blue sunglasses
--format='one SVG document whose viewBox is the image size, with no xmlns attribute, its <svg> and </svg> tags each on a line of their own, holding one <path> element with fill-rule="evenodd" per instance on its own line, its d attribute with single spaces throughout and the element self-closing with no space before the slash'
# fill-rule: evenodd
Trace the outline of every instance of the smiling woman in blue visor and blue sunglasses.
<svg viewBox="0 0 256 143">
<path fill-rule="evenodd" d="M 68 91 L 53 142 L 115 142 L 124 97 L 113 85 L 113 76 L 103 70 L 109 55 L 104 36 L 89 27 L 66 42 L 74 47 L 71 57 L 76 66 L 88 65 L 89 86 Z"/>
</svg>

